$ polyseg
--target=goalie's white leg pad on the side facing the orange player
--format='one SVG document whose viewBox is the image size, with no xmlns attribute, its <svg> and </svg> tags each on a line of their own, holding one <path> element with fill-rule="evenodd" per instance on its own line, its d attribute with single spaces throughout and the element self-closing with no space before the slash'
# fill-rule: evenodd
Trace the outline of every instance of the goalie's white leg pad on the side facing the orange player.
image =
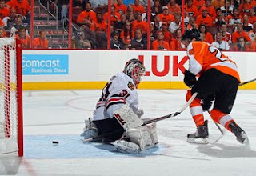
<svg viewBox="0 0 256 176">
<path fill-rule="evenodd" d="M 126 132 L 126 137 L 129 137 L 131 142 L 137 144 L 140 150 L 150 149 L 158 143 L 156 123 L 130 129 Z"/>
</svg>

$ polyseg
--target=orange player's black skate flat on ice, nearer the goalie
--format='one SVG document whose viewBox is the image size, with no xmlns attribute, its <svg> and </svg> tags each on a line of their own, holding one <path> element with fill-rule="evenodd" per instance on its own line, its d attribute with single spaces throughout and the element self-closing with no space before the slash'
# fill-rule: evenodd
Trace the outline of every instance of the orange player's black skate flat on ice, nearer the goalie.
<svg viewBox="0 0 256 176">
<path fill-rule="evenodd" d="M 208 121 L 205 121 L 203 126 L 198 126 L 197 131 L 194 134 L 187 134 L 187 142 L 207 144 L 208 142 Z"/>
</svg>

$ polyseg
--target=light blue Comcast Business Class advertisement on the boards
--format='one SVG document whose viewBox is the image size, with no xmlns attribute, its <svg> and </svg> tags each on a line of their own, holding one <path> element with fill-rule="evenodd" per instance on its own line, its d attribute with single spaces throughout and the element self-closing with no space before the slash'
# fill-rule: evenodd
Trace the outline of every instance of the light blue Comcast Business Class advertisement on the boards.
<svg viewBox="0 0 256 176">
<path fill-rule="evenodd" d="M 69 74 L 69 55 L 22 54 L 22 74 Z"/>
</svg>

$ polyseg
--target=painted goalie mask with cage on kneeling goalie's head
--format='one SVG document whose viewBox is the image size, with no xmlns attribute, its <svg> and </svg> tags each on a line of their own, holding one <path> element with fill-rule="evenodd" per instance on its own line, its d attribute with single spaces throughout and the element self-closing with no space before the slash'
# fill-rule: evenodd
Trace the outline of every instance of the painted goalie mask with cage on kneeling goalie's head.
<svg viewBox="0 0 256 176">
<path fill-rule="evenodd" d="M 132 78 L 136 87 L 138 87 L 139 82 L 141 82 L 142 77 L 145 75 L 145 66 L 137 58 L 132 58 L 126 62 L 123 72 Z"/>
</svg>

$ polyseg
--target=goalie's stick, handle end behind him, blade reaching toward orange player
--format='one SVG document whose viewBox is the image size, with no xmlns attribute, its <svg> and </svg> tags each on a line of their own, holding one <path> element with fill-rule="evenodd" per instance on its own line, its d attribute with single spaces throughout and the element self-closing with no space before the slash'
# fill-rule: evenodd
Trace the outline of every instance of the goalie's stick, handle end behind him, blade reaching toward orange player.
<svg viewBox="0 0 256 176">
<path fill-rule="evenodd" d="M 174 113 L 171 113 L 171 114 L 168 114 L 168 115 L 165 115 L 165 116 L 162 116 L 160 118 L 153 118 L 153 119 L 150 119 L 146 122 L 144 122 L 142 124 L 142 126 L 146 126 L 146 124 L 149 124 L 149 123 L 153 123 L 153 122 L 158 122 L 158 121 L 161 121 L 161 120 L 164 120 L 166 118 L 173 118 L 175 116 L 177 116 L 178 114 L 181 114 L 184 110 L 186 110 L 186 108 L 188 106 L 190 106 L 190 103 L 193 102 L 194 98 L 197 96 L 198 93 L 194 93 L 192 95 L 192 97 L 189 99 L 189 101 L 186 102 L 185 105 L 182 106 L 182 108 L 180 108 L 179 110 L 175 111 Z M 96 137 L 93 137 L 93 138 L 86 138 L 86 139 L 81 139 L 83 143 L 86 143 L 86 142 L 92 142 L 92 141 L 97 141 L 98 139 L 100 138 L 104 138 L 108 135 L 111 135 L 111 134 L 115 134 L 115 133 L 118 133 L 120 132 L 122 129 L 119 129 L 119 130 L 116 130 L 116 131 L 113 131 L 113 132 L 110 132 L 110 133 L 106 133 L 106 134 L 102 134 L 102 135 L 99 135 L 99 136 L 96 136 Z"/>
</svg>

